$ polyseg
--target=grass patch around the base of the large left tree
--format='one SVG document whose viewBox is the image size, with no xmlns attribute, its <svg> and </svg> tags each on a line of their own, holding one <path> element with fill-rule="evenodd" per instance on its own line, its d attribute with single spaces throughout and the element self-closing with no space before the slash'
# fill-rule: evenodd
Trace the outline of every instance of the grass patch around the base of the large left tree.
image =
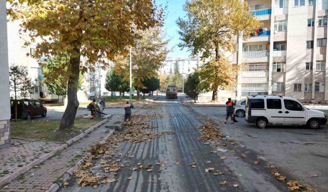
<svg viewBox="0 0 328 192">
<path fill-rule="evenodd" d="M 65 142 L 103 119 L 76 119 L 74 128 L 59 130 L 60 120 L 30 120 L 11 121 L 10 131 L 12 137 Z"/>
</svg>

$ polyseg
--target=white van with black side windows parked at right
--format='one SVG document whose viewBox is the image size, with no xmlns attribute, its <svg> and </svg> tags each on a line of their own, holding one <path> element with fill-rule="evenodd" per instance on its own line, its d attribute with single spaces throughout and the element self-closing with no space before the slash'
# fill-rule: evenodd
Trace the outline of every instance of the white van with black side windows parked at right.
<svg viewBox="0 0 328 192">
<path fill-rule="evenodd" d="M 319 129 L 320 125 L 327 123 L 323 112 L 304 108 L 294 98 L 274 95 L 247 97 L 244 118 L 259 128 L 274 124 L 307 125 L 311 129 Z"/>
</svg>

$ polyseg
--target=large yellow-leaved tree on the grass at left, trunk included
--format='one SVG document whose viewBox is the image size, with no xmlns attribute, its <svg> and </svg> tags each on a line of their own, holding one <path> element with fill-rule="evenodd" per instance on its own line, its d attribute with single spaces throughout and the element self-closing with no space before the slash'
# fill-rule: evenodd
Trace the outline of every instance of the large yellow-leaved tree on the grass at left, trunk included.
<svg viewBox="0 0 328 192">
<path fill-rule="evenodd" d="M 40 39 L 34 58 L 61 53 L 70 57 L 67 69 L 68 104 L 60 121 L 60 130 L 74 126 L 79 105 L 77 87 L 80 71 L 87 72 L 89 65 L 114 60 L 118 53 L 140 38 L 136 30 L 151 28 L 162 20 L 162 11 L 151 0 L 8 0 L 11 19 L 22 21 L 22 32 L 31 41 Z M 24 4 L 24 7 L 21 6 Z M 30 43 L 27 42 L 28 46 Z M 86 58 L 82 63 L 80 58 Z M 103 59 L 103 58 L 107 59 Z"/>
</svg>

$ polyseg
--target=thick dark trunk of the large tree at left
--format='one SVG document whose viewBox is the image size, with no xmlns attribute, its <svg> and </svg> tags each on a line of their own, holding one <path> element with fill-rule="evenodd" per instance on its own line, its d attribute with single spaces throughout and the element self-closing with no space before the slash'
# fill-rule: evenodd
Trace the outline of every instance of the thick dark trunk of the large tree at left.
<svg viewBox="0 0 328 192">
<path fill-rule="evenodd" d="M 63 117 L 61 117 L 59 130 L 73 128 L 76 111 L 79 105 L 77 100 L 77 84 L 80 72 L 80 51 L 78 49 L 75 49 L 74 51 L 78 54 L 70 60 L 70 66 L 68 69 L 70 77 L 68 80 L 67 107 Z"/>
</svg>

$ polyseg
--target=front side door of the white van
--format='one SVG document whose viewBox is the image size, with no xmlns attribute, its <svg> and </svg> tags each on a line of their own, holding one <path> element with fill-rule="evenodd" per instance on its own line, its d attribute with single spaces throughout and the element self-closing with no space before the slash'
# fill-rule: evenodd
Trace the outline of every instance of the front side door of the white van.
<svg viewBox="0 0 328 192">
<path fill-rule="evenodd" d="M 288 124 L 305 124 L 303 106 L 292 99 L 283 99 L 285 122 Z"/>
</svg>

